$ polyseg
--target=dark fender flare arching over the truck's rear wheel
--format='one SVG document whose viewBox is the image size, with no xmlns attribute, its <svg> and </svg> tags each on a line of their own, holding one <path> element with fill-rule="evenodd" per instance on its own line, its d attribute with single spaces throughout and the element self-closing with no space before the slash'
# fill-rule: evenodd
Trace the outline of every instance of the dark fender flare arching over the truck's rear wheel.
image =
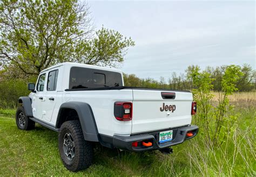
<svg viewBox="0 0 256 177">
<path fill-rule="evenodd" d="M 94 118 L 91 106 L 87 103 L 83 103 L 79 101 L 70 101 L 70 102 L 63 103 L 59 107 L 56 126 L 58 125 L 58 122 L 61 119 L 60 114 L 62 110 L 65 108 L 70 108 L 77 112 L 80 125 L 82 127 L 82 131 L 84 134 L 84 139 L 86 141 L 99 142 L 98 130 L 97 130 L 97 126 L 96 126 L 96 122 L 95 122 L 95 118 Z"/>
</svg>

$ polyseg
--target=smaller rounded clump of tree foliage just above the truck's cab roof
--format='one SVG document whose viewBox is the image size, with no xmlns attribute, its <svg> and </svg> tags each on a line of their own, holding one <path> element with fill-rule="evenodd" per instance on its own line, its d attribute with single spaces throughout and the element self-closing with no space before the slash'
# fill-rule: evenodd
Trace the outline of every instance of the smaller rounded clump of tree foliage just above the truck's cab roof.
<svg viewBox="0 0 256 177">
<path fill-rule="evenodd" d="M 124 61 L 129 46 L 134 46 L 131 38 L 102 26 L 102 29 L 96 32 L 95 38 L 79 44 L 73 58 L 79 63 L 115 67 Z"/>
</svg>

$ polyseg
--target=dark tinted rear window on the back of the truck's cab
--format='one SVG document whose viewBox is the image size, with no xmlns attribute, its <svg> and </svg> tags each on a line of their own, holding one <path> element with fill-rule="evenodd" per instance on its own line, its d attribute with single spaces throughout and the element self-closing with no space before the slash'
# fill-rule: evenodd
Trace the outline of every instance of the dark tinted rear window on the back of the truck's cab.
<svg viewBox="0 0 256 177">
<path fill-rule="evenodd" d="M 118 72 L 71 67 L 69 89 L 122 86 L 122 75 Z"/>
</svg>

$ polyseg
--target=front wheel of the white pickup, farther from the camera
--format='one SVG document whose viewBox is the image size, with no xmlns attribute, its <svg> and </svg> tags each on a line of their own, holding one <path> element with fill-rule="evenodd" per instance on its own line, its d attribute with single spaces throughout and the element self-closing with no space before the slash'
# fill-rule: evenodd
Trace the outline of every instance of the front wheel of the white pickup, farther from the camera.
<svg viewBox="0 0 256 177">
<path fill-rule="evenodd" d="M 16 125 L 21 130 L 35 129 L 35 122 L 26 116 L 22 106 L 19 106 L 16 111 Z"/>
</svg>

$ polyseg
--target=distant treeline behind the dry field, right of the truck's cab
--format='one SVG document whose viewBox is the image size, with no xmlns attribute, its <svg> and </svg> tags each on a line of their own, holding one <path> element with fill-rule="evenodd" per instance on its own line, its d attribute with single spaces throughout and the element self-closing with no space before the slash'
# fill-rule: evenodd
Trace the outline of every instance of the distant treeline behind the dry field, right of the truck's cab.
<svg viewBox="0 0 256 177">
<path fill-rule="evenodd" d="M 172 72 L 169 78 L 160 77 L 160 80 L 146 78 L 140 79 L 135 74 L 124 74 L 125 86 L 136 86 L 136 87 L 148 87 L 148 88 L 166 88 L 172 90 L 192 90 L 196 88 L 193 85 L 193 79 L 191 78 L 191 71 L 194 67 L 199 66 L 188 66 L 184 73 Z M 221 80 L 225 73 L 228 65 L 211 67 L 207 66 L 200 72 L 209 73 L 210 78 L 213 80 L 213 91 L 221 91 Z M 238 66 L 242 73 L 235 83 L 237 91 L 254 91 L 256 90 L 256 71 L 253 70 L 249 64 Z"/>
</svg>

